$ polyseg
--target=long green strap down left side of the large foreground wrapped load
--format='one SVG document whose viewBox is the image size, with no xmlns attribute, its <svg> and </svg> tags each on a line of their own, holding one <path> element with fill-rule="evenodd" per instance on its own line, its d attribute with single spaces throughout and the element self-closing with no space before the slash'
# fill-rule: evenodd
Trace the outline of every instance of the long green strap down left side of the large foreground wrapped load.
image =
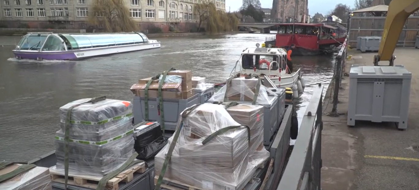
<svg viewBox="0 0 419 190">
<path fill-rule="evenodd" d="M 172 143 L 170 144 L 169 150 L 167 151 L 166 158 L 163 162 L 163 167 L 161 168 L 160 175 L 158 176 L 157 183 L 154 187 L 154 190 L 160 190 L 160 185 L 163 182 L 164 174 L 166 173 L 167 166 L 169 164 L 169 161 L 170 161 L 170 159 L 172 157 L 172 154 L 173 154 L 173 150 L 175 149 L 176 143 L 178 141 L 180 131 L 183 127 L 184 119 L 189 115 L 189 113 L 192 112 L 192 110 L 194 110 L 199 105 L 200 104 L 195 104 L 191 107 L 188 107 L 181 113 L 181 119 L 178 121 L 178 123 L 176 125 L 176 132 L 175 132 L 175 134 L 173 134 Z"/>
</svg>

